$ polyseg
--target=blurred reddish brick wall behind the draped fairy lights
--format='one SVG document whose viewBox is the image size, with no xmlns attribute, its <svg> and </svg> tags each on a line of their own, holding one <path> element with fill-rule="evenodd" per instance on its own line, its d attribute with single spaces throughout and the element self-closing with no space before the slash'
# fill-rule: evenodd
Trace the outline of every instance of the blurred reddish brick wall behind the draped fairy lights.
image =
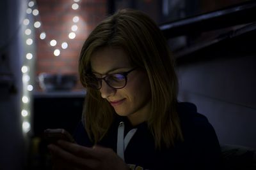
<svg viewBox="0 0 256 170">
<path fill-rule="evenodd" d="M 84 40 L 92 29 L 106 17 L 106 0 L 80 0 L 79 8 L 72 9 L 74 0 L 37 0 L 41 27 L 36 29 L 36 76 L 40 73 L 77 74 L 79 53 Z M 79 17 L 74 23 L 72 18 Z M 69 39 L 72 25 L 77 25 L 76 38 Z M 40 33 L 45 32 L 46 38 L 40 39 Z M 50 41 L 55 39 L 56 46 Z M 68 43 L 67 49 L 61 48 L 61 43 Z M 58 48 L 60 55 L 55 56 L 54 50 Z M 76 89 L 81 88 L 78 83 Z M 37 87 L 40 90 L 39 87 Z"/>
</svg>

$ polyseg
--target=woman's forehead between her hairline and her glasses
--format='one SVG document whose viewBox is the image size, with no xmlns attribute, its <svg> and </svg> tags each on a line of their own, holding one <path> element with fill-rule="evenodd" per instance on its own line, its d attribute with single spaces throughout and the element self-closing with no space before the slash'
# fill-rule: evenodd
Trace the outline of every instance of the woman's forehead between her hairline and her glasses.
<svg viewBox="0 0 256 170">
<path fill-rule="evenodd" d="M 106 73 L 111 69 L 131 67 L 129 56 L 122 48 L 104 47 L 99 48 L 91 56 L 92 71 Z"/>
</svg>

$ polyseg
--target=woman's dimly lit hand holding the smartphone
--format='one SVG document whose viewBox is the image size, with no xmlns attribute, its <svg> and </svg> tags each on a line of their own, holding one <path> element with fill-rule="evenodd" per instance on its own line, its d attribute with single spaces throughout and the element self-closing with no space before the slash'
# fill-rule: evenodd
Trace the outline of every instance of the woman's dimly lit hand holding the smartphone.
<svg viewBox="0 0 256 170">
<path fill-rule="evenodd" d="M 124 160 L 110 148 L 88 148 L 61 140 L 56 145 L 48 145 L 48 148 L 52 155 L 53 169 L 129 169 Z"/>
</svg>

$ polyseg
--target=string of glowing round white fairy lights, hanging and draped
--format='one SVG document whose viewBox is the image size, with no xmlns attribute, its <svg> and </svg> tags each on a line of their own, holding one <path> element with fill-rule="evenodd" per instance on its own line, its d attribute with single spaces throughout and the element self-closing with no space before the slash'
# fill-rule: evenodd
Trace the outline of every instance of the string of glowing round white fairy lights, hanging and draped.
<svg viewBox="0 0 256 170">
<path fill-rule="evenodd" d="M 71 1 L 71 0 L 70 0 Z M 74 3 L 72 3 L 71 8 L 73 10 L 78 10 L 79 9 L 79 2 L 80 0 L 73 0 Z M 33 32 L 34 29 L 33 27 L 35 27 L 35 29 L 39 29 L 40 30 L 40 36 L 39 38 L 47 41 L 47 44 L 49 46 L 52 46 L 52 52 L 54 56 L 59 56 L 61 54 L 61 50 L 65 50 L 68 48 L 68 42 L 63 41 L 63 42 L 59 42 L 56 39 L 47 39 L 48 36 L 46 34 L 46 32 L 43 30 L 43 23 L 40 21 L 40 18 L 38 17 L 38 15 L 40 14 L 40 12 L 38 11 L 38 9 L 36 8 L 36 1 L 35 0 L 29 0 L 28 1 L 28 6 L 26 9 L 26 18 L 24 18 L 23 20 L 23 26 L 25 27 L 24 29 L 24 43 L 26 43 L 26 45 L 28 45 L 28 47 L 26 48 L 26 52 L 24 53 L 24 57 L 26 57 L 24 60 L 24 64 L 21 67 L 21 71 L 22 71 L 22 82 L 23 82 L 23 94 L 21 97 L 22 100 L 22 109 L 21 109 L 21 115 L 23 118 L 23 123 L 22 123 L 22 130 L 23 132 L 25 132 L 25 134 L 27 132 L 29 132 L 31 130 L 31 124 L 30 122 L 30 115 L 29 113 L 30 111 L 30 95 L 31 95 L 31 91 L 33 91 L 34 87 L 33 87 L 33 79 L 31 80 L 30 76 L 31 76 L 31 69 L 33 69 L 33 67 L 31 67 L 31 65 L 29 65 L 29 63 L 31 64 L 31 62 L 33 61 L 34 58 L 34 54 L 33 54 Z M 33 17 L 33 20 L 29 20 L 29 18 Z M 35 20 L 35 21 L 34 21 Z M 79 17 L 78 16 L 74 16 L 72 18 L 72 22 L 73 25 L 71 26 L 71 31 L 67 33 L 67 39 L 75 39 L 76 38 L 76 31 L 78 30 L 78 22 L 79 22 Z M 57 48 L 58 46 L 58 48 Z M 26 63 L 25 63 L 26 62 Z"/>
</svg>

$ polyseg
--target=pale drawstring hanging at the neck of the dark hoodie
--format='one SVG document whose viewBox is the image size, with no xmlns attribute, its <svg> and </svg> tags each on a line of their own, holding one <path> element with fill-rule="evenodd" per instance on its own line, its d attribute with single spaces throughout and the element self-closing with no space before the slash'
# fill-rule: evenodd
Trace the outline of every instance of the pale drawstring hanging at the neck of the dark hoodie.
<svg viewBox="0 0 256 170">
<path fill-rule="evenodd" d="M 118 132 L 117 132 L 117 145 L 116 145 L 116 153 L 119 157 L 121 157 L 124 160 L 124 151 L 131 140 L 132 136 L 135 134 L 137 129 L 131 129 L 127 133 L 127 135 L 124 138 L 124 122 L 120 122 L 118 126 Z"/>
</svg>

